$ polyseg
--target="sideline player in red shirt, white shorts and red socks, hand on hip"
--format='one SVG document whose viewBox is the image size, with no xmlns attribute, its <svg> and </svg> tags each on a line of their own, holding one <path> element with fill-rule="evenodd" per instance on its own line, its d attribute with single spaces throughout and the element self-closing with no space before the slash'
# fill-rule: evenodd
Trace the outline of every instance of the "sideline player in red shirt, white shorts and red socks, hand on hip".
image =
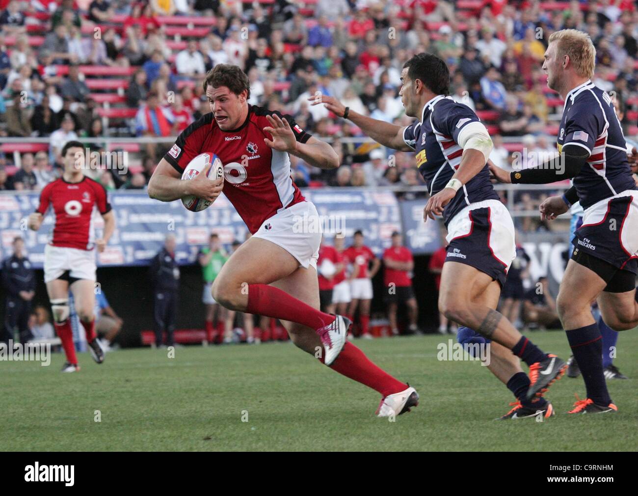
<svg viewBox="0 0 638 496">
<path fill-rule="evenodd" d="M 371 339 L 370 334 L 370 303 L 372 301 L 372 278 L 379 271 L 381 260 L 375 253 L 363 244 L 363 232 L 355 231 L 354 244 L 347 248 L 343 255 L 352 264 L 352 274 L 350 274 L 350 293 L 352 301 L 348 308 L 348 315 L 355 315 L 359 306 L 359 324 L 361 337 Z M 369 267 L 372 262 L 372 267 Z M 360 303 L 360 305 L 359 305 Z"/>
</svg>

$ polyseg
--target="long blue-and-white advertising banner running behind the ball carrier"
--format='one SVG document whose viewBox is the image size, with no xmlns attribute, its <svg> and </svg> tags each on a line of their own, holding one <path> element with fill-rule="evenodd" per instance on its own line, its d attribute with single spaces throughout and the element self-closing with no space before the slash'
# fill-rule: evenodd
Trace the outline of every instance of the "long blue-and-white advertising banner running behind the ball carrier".
<svg viewBox="0 0 638 496">
<path fill-rule="evenodd" d="M 401 232 L 399 204 L 392 192 L 373 190 L 306 190 L 306 199 L 315 203 L 323 232 L 331 243 L 332 234 L 343 232 L 346 246 L 352 234 L 360 229 L 366 244 L 377 255 L 390 246 L 390 235 Z M 188 211 L 182 202 L 159 202 L 145 191 L 108 193 L 117 229 L 107 249 L 98 253 L 98 266 L 145 266 L 161 248 L 167 234 L 177 239 L 176 257 L 180 264 L 191 264 L 216 232 L 226 246 L 238 239 L 244 241 L 246 225 L 225 196 L 201 212 Z M 38 193 L 0 193 L 0 257 L 11 254 L 11 242 L 22 236 L 29 259 L 41 268 L 44 247 L 53 229 L 54 216 L 49 211 L 39 231 L 27 229 L 27 217 L 38 207 Z M 101 236 L 103 221 L 94 212 L 96 236 Z"/>
</svg>

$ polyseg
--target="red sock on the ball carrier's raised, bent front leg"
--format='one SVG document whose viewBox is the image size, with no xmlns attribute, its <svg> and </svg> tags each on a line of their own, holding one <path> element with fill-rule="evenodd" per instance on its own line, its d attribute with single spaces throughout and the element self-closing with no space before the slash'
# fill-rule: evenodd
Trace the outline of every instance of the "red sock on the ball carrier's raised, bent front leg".
<svg viewBox="0 0 638 496">
<path fill-rule="evenodd" d="M 279 320 L 290 320 L 315 330 L 327 326 L 334 320 L 333 315 L 320 312 L 285 291 L 266 284 L 248 285 L 246 312 Z"/>
</svg>

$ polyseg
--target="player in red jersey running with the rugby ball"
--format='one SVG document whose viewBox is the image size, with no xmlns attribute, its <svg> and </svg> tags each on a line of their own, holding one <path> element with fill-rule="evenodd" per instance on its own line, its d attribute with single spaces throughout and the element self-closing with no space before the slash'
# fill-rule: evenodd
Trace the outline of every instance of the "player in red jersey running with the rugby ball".
<svg viewBox="0 0 638 496">
<path fill-rule="evenodd" d="M 289 154 L 322 169 L 339 167 L 337 154 L 292 117 L 249 105 L 250 83 L 237 66 L 216 65 L 204 89 L 211 113 L 179 135 L 159 162 L 148 192 L 167 202 L 187 195 L 214 201 L 225 187 L 224 194 L 253 236 L 215 279 L 215 301 L 229 310 L 281 320 L 297 347 L 381 393 L 378 416 L 408 411 L 418 402 L 415 389 L 347 342 L 350 320 L 319 310 L 321 224 L 315 206 L 292 182 Z M 225 164 L 223 179 L 210 181 L 199 174 L 181 181 L 188 163 L 205 152 L 216 153 Z"/>
</svg>

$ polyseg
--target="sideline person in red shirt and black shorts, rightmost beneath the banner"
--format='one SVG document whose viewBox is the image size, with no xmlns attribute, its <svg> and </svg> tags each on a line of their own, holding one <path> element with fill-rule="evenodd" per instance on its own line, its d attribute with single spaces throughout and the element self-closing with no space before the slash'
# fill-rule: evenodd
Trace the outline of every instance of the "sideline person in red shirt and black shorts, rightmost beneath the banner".
<svg viewBox="0 0 638 496">
<path fill-rule="evenodd" d="M 410 274 L 414 269 L 414 259 L 412 252 L 403 246 L 403 237 L 399 232 L 392 233 L 392 246 L 383 252 L 383 265 L 385 266 L 383 283 L 388 290 L 385 301 L 388 304 L 388 320 L 390 320 L 392 334 L 395 336 L 399 334 L 397 327 L 399 303 L 408 307 L 409 333 L 417 333 L 419 308 L 412 290 L 412 274 Z"/>
</svg>

